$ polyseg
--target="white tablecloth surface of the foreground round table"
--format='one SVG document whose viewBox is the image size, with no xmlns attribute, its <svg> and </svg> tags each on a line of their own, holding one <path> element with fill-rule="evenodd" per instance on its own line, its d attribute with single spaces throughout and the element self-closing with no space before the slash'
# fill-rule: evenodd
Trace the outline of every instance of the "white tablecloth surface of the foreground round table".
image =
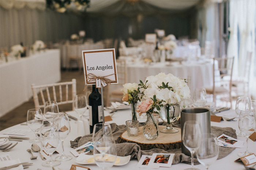
<svg viewBox="0 0 256 170">
<path fill-rule="evenodd" d="M 88 111 L 87 111 L 88 112 Z M 78 115 L 76 115 L 76 113 L 74 113 L 74 111 L 71 112 L 67 112 L 69 115 L 73 115 L 76 117 L 79 117 Z M 85 113 L 88 114 L 88 113 Z M 105 116 L 108 116 L 109 113 L 105 111 Z M 229 110 L 229 111 L 223 111 L 221 113 L 217 113 L 217 116 L 223 116 L 225 115 L 226 117 L 234 117 L 236 116 L 236 113 L 234 110 Z M 114 115 L 112 115 L 112 119 L 111 121 L 107 121 L 106 123 L 116 123 L 117 125 L 121 125 L 121 124 L 125 124 L 126 120 L 131 120 L 132 115 L 131 115 L 131 109 L 125 109 L 125 110 L 117 110 L 116 112 L 114 112 Z M 237 119 L 235 119 L 237 120 Z M 78 165 L 78 166 L 83 166 L 83 167 L 88 167 L 91 170 L 100 170 L 100 168 L 97 165 L 80 165 L 78 163 L 75 162 L 76 158 L 74 155 L 71 154 L 71 150 L 74 150 L 74 148 L 70 147 L 70 141 L 76 139 L 78 137 L 77 134 L 77 126 L 78 123 L 76 123 L 75 120 L 71 119 L 70 121 L 71 124 L 71 132 L 68 135 L 68 137 L 65 139 L 64 141 L 64 151 L 66 155 L 71 155 L 72 159 L 70 161 L 66 161 L 66 162 L 61 162 L 61 164 L 59 166 L 57 166 L 59 169 L 61 170 L 69 170 L 71 168 L 71 165 Z M 217 122 L 211 122 L 212 126 L 218 126 L 218 127 L 232 127 L 233 129 L 235 129 L 236 131 L 239 131 L 238 128 L 238 121 L 221 121 L 220 123 Z M 10 130 L 14 130 L 14 129 L 19 129 L 19 130 L 29 130 L 29 127 L 27 125 L 21 125 L 21 124 L 17 124 L 13 127 L 7 128 L 5 130 L 0 131 L 0 135 L 5 134 L 6 132 L 10 131 Z M 12 135 L 13 136 L 13 135 Z M 33 139 L 35 137 L 35 134 L 31 131 L 28 135 L 26 136 L 22 136 L 22 137 L 29 137 L 30 139 Z M 238 137 L 239 140 L 243 140 L 245 141 L 245 137 Z M 13 144 L 16 143 L 16 141 L 10 141 Z M 9 142 L 9 143 L 10 143 Z M 42 146 L 40 143 L 38 143 L 38 145 L 41 147 L 42 150 Z M 215 161 L 211 166 L 210 166 L 210 170 L 216 170 L 216 169 L 228 169 L 228 170 L 242 170 L 245 169 L 244 165 L 240 162 L 234 162 L 236 159 L 239 158 L 238 153 L 242 152 L 245 150 L 245 143 L 244 143 L 244 147 L 242 148 L 236 148 L 234 151 L 232 151 L 229 155 L 227 155 L 225 158 L 219 159 L 217 161 Z M 61 144 L 59 146 L 61 148 Z M 9 152 L 2 152 L 0 153 L 0 155 L 4 155 L 4 154 L 10 154 L 12 159 L 20 159 L 21 162 L 30 162 L 33 163 L 33 165 L 31 165 L 29 167 L 29 169 L 31 170 L 37 170 L 37 169 L 42 169 L 42 170 L 50 170 L 52 168 L 50 167 L 43 167 L 42 163 L 45 161 L 42 161 L 42 159 L 39 156 L 39 153 L 37 152 L 33 152 L 33 154 L 35 156 L 37 156 L 37 159 L 33 159 L 30 160 L 31 154 L 29 152 L 27 152 L 27 149 L 31 148 L 31 143 L 29 143 L 29 140 L 23 140 L 22 142 L 18 142 L 18 145 L 16 147 L 14 147 L 11 151 Z M 59 150 L 59 149 L 58 149 Z M 60 149 L 61 150 L 61 149 Z M 253 142 L 251 139 L 249 139 L 249 151 L 252 153 L 256 153 L 256 144 L 255 142 Z M 44 157 L 47 159 L 46 161 L 49 160 L 49 156 L 47 156 L 44 152 L 41 152 Z M 53 158 L 56 158 L 57 156 L 59 156 L 60 154 L 53 154 Z M 113 166 L 110 168 L 110 170 L 142 170 L 143 168 L 139 168 L 136 167 L 138 163 L 137 159 L 132 159 L 130 160 L 126 165 L 123 166 Z M 0 163 L 1 164 L 1 163 Z M 170 168 L 166 168 L 166 167 L 159 167 L 160 170 L 184 170 L 189 168 L 191 165 L 185 164 L 185 163 L 178 163 L 176 165 L 172 165 Z M 200 170 L 204 170 L 204 166 L 203 165 L 195 165 L 196 168 L 200 169 Z M 148 168 L 150 169 L 150 168 Z"/>
</svg>

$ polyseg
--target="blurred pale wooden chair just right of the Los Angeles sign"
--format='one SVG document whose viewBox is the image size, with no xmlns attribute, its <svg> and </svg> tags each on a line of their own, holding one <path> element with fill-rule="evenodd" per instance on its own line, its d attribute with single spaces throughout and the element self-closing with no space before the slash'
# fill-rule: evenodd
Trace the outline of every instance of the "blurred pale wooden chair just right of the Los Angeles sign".
<svg viewBox="0 0 256 170">
<path fill-rule="evenodd" d="M 109 100 L 111 101 L 122 101 L 123 92 L 123 84 L 127 83 L 127 67 L 125 60 L 117 59 L 116 60 L 117 73 L 118 73 L 118 84 L 111 85 L 111 89 L 109 90 Z"/>
</svg>

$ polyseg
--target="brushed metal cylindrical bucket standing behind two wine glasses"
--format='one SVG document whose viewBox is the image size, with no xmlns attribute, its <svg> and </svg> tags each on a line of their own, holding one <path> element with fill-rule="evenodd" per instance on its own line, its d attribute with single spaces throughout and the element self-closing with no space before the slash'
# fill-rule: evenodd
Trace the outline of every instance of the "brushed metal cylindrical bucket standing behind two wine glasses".
<svg viewBox="0 0 256 170">
<path fill-rule="evenodd" d="M 182 141 L 182 133 L 183 127 L 186 121 L 195 120 L 200 123 L 202 134 L 210 134 L 211 133 L 211 113 L 210 109 L 207 108 L 187 108 L 181 110 L 181 141 Z M 203 136 L 204 137 L 204 136 Z M 209 136 L 210 137 L 210 136 Z M 181 151 L 185 155 L 191 157 L 189 150 L 181 144 Z"/>
</svg>

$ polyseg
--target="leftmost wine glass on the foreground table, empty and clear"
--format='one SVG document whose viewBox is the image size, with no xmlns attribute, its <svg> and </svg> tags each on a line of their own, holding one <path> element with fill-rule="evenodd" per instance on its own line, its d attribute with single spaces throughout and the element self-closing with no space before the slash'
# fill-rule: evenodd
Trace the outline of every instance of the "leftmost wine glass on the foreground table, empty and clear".
<svg viewBox="0 0 256 170">
<path fill-rule="evenodd" d="M 43 115 L 41 109 L 29 109 L 27 111 L 27 125 L 30 130 L 35 133 L 35 139 L 30 140 L 30 143 L 40 142 L 37 137 L 37 133 L 40 130 L 40 127 L 44 124 Z"/>
</svg>

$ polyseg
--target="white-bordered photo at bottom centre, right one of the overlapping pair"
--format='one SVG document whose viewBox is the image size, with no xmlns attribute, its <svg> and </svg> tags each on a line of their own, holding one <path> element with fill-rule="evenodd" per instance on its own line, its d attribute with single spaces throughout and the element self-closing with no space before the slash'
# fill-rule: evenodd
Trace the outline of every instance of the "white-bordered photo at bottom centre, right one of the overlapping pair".
<svg viewBox="0 0 256 170">
<path fill-rule="evenodd" d="M 174 154 L 153 154 L 148 166 L 171 167 Z"/>
</svg>

